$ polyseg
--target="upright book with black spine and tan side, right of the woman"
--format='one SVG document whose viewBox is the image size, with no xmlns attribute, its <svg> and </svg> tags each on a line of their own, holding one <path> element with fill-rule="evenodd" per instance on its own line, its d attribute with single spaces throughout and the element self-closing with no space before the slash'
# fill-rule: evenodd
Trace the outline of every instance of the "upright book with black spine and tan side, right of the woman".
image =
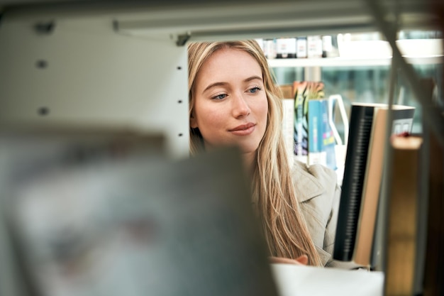
<svg viewBox="0 0 444 296">
<path fill-rule="evenodd" d="M 414 107 L 394 105 L 391 132 L 411 131 Z M 372 246 L 381 188 L 387 104 L 355 103 L 345 156 L 333 258 L 372 265 Z"/>
</svg>

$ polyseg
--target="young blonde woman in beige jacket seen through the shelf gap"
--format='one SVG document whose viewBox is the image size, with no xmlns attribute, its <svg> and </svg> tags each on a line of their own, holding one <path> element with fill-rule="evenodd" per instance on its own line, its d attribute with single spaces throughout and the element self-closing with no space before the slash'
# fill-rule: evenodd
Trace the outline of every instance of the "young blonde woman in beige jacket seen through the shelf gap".
<svg viewBox="0 0 444 296">
<path fill-rule="evenodd" d="M 309 265 L 331 265 L 336 176 L 321 165 L 306 168 L 287 153 L 281 93 L 261 48 L 246 40 L 191 43 L 188 50 L 192 154 L 239 146 L 274 262 L 306 263 L 308 257 Z"/>
</svg>

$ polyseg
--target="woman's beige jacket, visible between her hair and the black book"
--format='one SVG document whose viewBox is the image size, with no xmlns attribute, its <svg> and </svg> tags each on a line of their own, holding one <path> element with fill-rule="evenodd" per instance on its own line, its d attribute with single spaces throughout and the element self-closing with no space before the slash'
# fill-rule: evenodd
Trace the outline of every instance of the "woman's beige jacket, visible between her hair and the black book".
<svg viewBox="0 0 444 296">
<path fill-rule="evenodd" d="M 340 186 L 333 170 L 323 165 L 309 168 L 297 160 L 293 165 L 293 182 L 301 212 L 323 265 L 344 267 L 333 261 L 333 244 L 340 200 Z M 353 268 L 353 267 L 352 267 Z"/>
</svg>

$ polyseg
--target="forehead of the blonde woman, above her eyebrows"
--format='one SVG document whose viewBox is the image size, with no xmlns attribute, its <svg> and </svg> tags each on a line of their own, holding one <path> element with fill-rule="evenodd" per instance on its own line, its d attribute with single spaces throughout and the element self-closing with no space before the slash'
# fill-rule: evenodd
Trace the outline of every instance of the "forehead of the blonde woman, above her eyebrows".
<svg viewBox="0 0 444 296">
<path fill-rule="evenodd" d="M 202 65 L 196 84 L 244 80 L 262 77 L 262 69 L 249 53 L 235 48 L 223 48 L 213 53 Z"/>
</svg>

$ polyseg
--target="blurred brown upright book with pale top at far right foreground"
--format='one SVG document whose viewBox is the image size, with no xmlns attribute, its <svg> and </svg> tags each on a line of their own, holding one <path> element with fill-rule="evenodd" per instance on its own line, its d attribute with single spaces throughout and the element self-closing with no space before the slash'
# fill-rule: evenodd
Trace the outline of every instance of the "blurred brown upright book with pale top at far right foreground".
<svg viewBox="0 0 444 296">
<path fill-rule="evenodd" d="M 390 140 L 384 295 L 414 295 L 423 139 L 393 136 Z"/>
</svg>

